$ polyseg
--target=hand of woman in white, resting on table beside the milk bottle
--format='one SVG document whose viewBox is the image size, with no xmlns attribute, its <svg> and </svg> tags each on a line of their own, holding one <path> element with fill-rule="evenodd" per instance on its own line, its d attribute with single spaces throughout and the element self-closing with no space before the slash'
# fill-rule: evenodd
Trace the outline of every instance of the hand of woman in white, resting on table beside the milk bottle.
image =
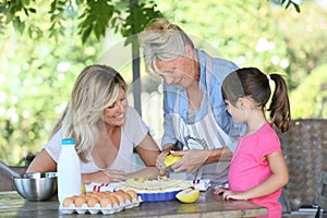
<svg viewBox="0 0 327 218">
<path fill-rule="evenodd" d="M 122 182 L 128 180 L 125 172 L 121 170 L 109 170 L 105 169 L 95 173 L 82 174 L 83 183 L 89 184 L 92 182 L 96 183 L 112 183 L 112 182 Z"/>
</svg>

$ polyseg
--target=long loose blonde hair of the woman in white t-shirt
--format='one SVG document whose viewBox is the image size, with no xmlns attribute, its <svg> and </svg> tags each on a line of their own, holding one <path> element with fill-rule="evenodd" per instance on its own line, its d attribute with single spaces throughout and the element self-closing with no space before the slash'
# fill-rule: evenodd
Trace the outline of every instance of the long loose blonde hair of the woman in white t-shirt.
<svg viewBox="0 0 327 218">
<path fill-rule="evenodd" d="M 86 66 L 75 81 L 51 136 L 61 129 L 63 137 L 74 138 L 76 152 L 86 162 L 99 138 L 104 110 L 114 102 L 120 87 L 126 90 L 126 83 L 114 69 L 97 64 Z"/>
</svg>

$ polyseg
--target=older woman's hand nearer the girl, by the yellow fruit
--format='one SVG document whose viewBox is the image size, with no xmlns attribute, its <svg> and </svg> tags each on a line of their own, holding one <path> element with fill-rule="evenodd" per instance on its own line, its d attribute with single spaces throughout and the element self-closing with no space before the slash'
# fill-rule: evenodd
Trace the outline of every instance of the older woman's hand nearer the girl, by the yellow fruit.
<svg viewBox="0 0 327 218">
<path fill-rule="evenodd" d="M 182 156 L 179 161 L 171 166 L 174 172 L 196 172 L 209 157 L 210 150 L 190 149 L 179 152 L 171 150 L 170 153 Z"/>
</svg>

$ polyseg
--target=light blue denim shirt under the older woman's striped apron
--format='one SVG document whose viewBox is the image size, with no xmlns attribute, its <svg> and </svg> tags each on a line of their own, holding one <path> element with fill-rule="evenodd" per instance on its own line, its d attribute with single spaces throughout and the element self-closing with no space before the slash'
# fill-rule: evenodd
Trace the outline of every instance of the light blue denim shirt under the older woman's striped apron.
<svg viewBox="0 0 327 218">
<path fill-rule="evenodd" d="M 245 124 L 238 124 L 233 122 L 231 116 L 228 113 L 226 108 L 226 102 L 223 101 L 221 94 L 221 85 L 223 78 L 231 72 L 235 71 L 238 68 L 231 61 L 227 61 L 219 58 L 211 58 L 202 50 L 197 50 L 198 61 L 201 65 L 201 77 L 199 77 L 199 88 L 203 90 L 203 100 L 201 108 L 195 117 L 194 122 L 202 120 L 208 113 L 207 104 L 211 105 L 211 109 L 215 119 L 219 126 L 232 138 L 232 144 L 228 145 L 229 148 L 234 152 L 237 146 L 237 140 L 240 135 L 245 132 Z M 206 82 L 206 59 L 211 59 L 211 80 L 210 84 Z M 179 111 L 174 111 L 174 106 L 177 101 L 178 93 L 181 95 L 179 97 Z M 209 98 L 209 99 L 208 99 Z M 166 144 L 174 144 L 177 137 L 174 134 L 172 117 L 169 114 L 179 113 L 181 118 L 187 123 L 186 113 L 189 107 L 189 99 L 186 95 L 186 89 L 175 85 L 168 85 L 164 81 L 164 136 L 161 141 L 161 146 Z"/>
</svg>

